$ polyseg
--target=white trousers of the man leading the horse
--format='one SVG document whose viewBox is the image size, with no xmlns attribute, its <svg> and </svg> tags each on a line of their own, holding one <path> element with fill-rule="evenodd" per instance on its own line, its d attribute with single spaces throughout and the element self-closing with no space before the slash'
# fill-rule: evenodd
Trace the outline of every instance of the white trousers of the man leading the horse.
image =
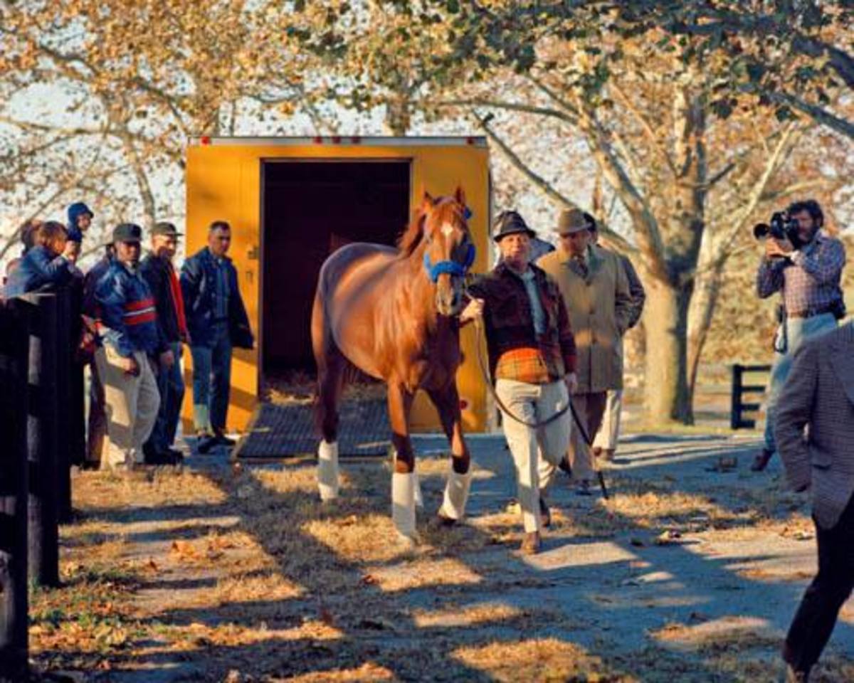
<svg viewBox="0 0 854 683">
<path fill-rule="evenodd" d="M 564 408 L 570 400 L 566 384 L 529 384 L 510 379 L 495 382 L 495 393 L 513 415 L 526 422 L 542 422 Z M 540 429 L 502 417 L 504 435 L 516 464 L 519 506 L 526 532 L 539 531 L 540 490 L 551 483 L 555 467 L 564 457 L 572 429 L 569 412 Z"/>
</svg>

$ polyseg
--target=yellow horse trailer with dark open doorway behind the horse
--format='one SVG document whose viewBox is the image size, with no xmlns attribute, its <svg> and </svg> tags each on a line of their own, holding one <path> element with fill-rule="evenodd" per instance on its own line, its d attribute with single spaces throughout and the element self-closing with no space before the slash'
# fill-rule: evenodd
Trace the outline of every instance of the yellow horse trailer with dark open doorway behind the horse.
<svg viewBox="0 0 854 683">
<path fill-rule="evenodd" d="M 265 377 L 313 369 L 310 318 L 325 258 L 348 242 L 394 243 L 425 191 L 449 195 L 457 185 L 471 209 L 472 271 L 483 272 L 491 260 L 483 137 L 200 137 L 190 143 L 187 254 L 205 246 L 213 220 L 231 224 L 229 255 L 257 341 L 254 350 L 234 354 L 229 429 L 250 425 Z M 477 432 L 491 420 L 471 327 L 462 333 L 458 385 L 465 429 Z M 190 382 L 188 419 L 189 388 Z M 439 429 L 430 401 L 418 395 L 412 431 Z"/>
</svg>

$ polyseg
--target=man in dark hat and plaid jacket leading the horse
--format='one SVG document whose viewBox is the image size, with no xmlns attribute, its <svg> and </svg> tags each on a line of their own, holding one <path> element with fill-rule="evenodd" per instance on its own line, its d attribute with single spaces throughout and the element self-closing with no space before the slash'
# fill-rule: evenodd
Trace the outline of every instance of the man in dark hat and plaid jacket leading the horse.
<svg viewBox="0 0 854 683">
<path fill-rule="evenodd" d="M 577 388 L 570 318 L 557 283 L 529 261 L 533 236 L 518 213 L 499 216 L 494 240 L 501 262 L 469 287 L 473 298 L 459 317 L 462 324 L 484 318 L 502 426 L 516 464 L 526 555 L 539 552 L 541 529 L 551 522 L 542 493 L 569 445 L 568 408 Z"/>
</svg>

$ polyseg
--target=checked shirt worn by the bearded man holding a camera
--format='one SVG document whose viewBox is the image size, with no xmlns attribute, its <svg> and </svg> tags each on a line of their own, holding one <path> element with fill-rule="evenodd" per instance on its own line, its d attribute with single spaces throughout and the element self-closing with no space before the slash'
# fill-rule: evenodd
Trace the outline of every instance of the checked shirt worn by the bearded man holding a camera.
<svg viewBox="0 0 854 683">
<path fill-rule="evenodd" d="M 782 291 L 789 314 L 824 312 L 842 301 L 839 277 L 845 266 L 842 242 L 822 233 L 789 259 L 763 259 L 756 278 L 757 294 L 765 299 Z"/>
</svg>

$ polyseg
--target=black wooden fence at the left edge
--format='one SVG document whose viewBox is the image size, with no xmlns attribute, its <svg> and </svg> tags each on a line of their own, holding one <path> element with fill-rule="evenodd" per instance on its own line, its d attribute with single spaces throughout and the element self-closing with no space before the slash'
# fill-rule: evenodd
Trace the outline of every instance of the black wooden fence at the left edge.
<svg viewBox="0 0 854 683">
<path fill-rule="evenodd" d="M 27 577 L 60 582 L 58 524 L 84 447 L 73 296 L 0 301 L 0 679 L 26 680 Z"/>
</svg>

